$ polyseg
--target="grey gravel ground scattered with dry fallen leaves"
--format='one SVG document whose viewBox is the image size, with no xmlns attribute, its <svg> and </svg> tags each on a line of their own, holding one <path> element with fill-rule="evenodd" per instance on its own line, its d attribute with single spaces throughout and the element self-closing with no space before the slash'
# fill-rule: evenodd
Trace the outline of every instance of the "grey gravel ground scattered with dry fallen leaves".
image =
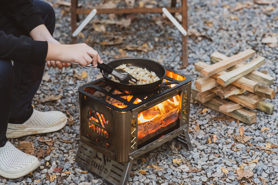
<svg viewBox="0 0 278 185">
<path fill-rule="evenodd" d="M 70 41 L 70 14 L 69 7 L 58 6 L 56 1 L 47 1 L 51 3 L 56 12 L 56 30 L 54 38 L 64 44 Z M 118 7 L 125 7 L 124 1 L 113 1 Z M 151 4 L 148 1 L 146 5 L 153 7 L 169 6 L 170 2 L 156 1 Z M 151 2 L 151 1 L 150 1 Z M 238 1 L 239 2 L 239 1 Z M 243 1 L 242 1 L 243 2 Z M 84 7 L 93 7 L 101 5 L 100 1 L 82 0 L 80 3 Z M 251 2 L 250 2 L 251 3 Z M 139 2 L 136 1 L 135 5 Z M 180 4 L 180 3 L 178 3 Z M 261 55 L 266 58 L 266 63 L 258 70 L 265 70 L 272 76 L 274 84 L 271 88 L 277 91 L 278 69 L 278 12 L 277 2 L 269 5 L 247 5 L 238 11 L 233 9 L 239 4 L 234 0 L 230 1 L 199 1 L 188 2 L 188 27 L 193 30 L 188 39 L 188 60 L 190 65 L 187 68 L 181 68 L 180 56 L 182 55 L 181 34 L 174 26 L 163 19 L 160 14 L 134 14 L 132 16 L 108 16 L 97 15 L 94 18 L 94 24 L 89 24 L 84 30 L 84 38 L 81 34 L 78 43 L 88 43 L 101 53 L 103 61 L 111 61 L 117 57 L 143 57 L 154 59 L 163 65 L 178 70 L 184 74 L 190 75 L 194 80 L 198 73 L 195 72 L 194 63 L 204 61 L 209 63 L 210 54 L 214 51 L 231 56 L 248 48 L 256 50 L 256 56 Z M 101 20 L 121 21 L 131 18 L 130 26 L 122 23 L 105 24 Z M 83 20 L 84 16 L 80 16 Z M 123 22 L 126 22 L 124 20 Z M 106 21 L 107 23 L 107 21 Z M 100 32 L 97 32 L 99 30 Z M 102 30 L 102 32 L 101 32 Z M 105 31 L 104 31 L 105 30 Z M 197 32 L 196 32 L 197 31 Z M 270 36 L 274 43 L 262 43 L 264 37 Z M 276 39 L 276 40 L 275 40 Z M 115 43 L 118 45 L 107 45 Z M 144 45 L 146 43 L 146 45 Z M 130 51 L 124 49 L 127 45 L 145 46 L 145 51 Z M 276 46 L 276 48 L 275 48 Z M 81 80 L 78 75 L 86 71 L 88 76 Z M 47 76 L 48 74 L 48 76 Z M 46 150 L 48 147 L 54 147 L 49 155 L 43 155 L 40 158 L 41 166 L 33 172 L 33 175 L 10 180 L 1 178 L 0 184 L 104 184 L 102 180 L 92 176 L 92 174 L 81 174 L 74 164 L 74 158 L 79 146 L 79 100 L 77 88 L 83 84 L 95 80 L 98 76 L 98 70 L 78 67 L 76 69 L 57 70 L 53 68 L 45 69 L 45 77 L 36 96 L 33 105 L 39 111 L 68 110 L 73 116 L 74 124 L 65 126 L 62 130 L 54 133 L 27 136 L 19 139 L 11 139 L 14 145 L 19 144 L 19 140 L 33 141 L 35 151 L 40 148 Z M 79 79 L 78 79 L 79 78 Z M 194 83 L 192 84 L 194 87 Z M 45 101 L 50 95 L 59 96 L 56 101 Z M 45 101 L 45 102 L 44 102 Z M 268 100 L 269 101 L 269 100 Z M 190 129 L 195 125 L 200 125 L 200 131 L 190 132 L 193 150 L 188 151 L 184 144 L 176 139 L 158 147 L 140 158 L 135 159 L 132 167 L 132 174 L 129 177 L 129 184 L 263 184 L 259 179 L 265 178 L 264 184 L 278 184 L 278 157 L 277 149 L 272 149 L 274 153 L 266 153 L 255 147 L 266 146 L 270 144 L 277 145 L 277 96 L 271 101 L 275 105 L 275 111 L 272 115 L 257 111 L 257 123 L 250 125 L 241 122 L 228 120 L 213 120 L 214 117 L 224 116 L 217 111 L 208 109 L 205 113 L 200 113 L 205 107 L 202 105 L 191 104 L 190 110 Z M 43 102 L 43 103 L 42 103 Z M 68 115 L 67 115 L 68 116 Z M 245 143 L 235 142 L 234 135 L 239 135 L 239 128 L 243 126 L 244 136 L 252 136 Z M 261 132 L 262 129 L 269 130 Z M 216 134 L 216 140 L 213 142 L 213 136 Z M 44 139 L 52 138 L 55 140 L 52 146 L 38 139 L 42 136 Z M 208 143 L 209 138 L 212 144 Z M 215 136 L 214 136 L 215 138 Z M 64 142 L 64 140 L 68 142 Z M 252 146 L 254 145 L 254 146 Z M 146 162 L 143 163 L 143 159 Z M 173 163 L 174 159 L 182 159 L 180 165 Z M 243 162 L 257 160 L 255 163 L 245 165 Z M 48 162 L 48 163 L 47 163 Z M 253 161 L 254 162 L 254 161 Z M 157 165 L 161 170 L 147 168 L 147 165 Z M 248 164 L 248 163 L 247 163 Z M 192 166 L 194 169 L 200 169 L 198 172 L 184 172 L 181 165 Z M 254 174 L 250 178 L 237 180 L 236 169 L 242 167 L 247 173 L 248 170 Z M 70 171 L 71 174 L 56 173 L 57 178 L 53 181 L 46 180 L 46 174 L 54 175 L 54 167 L 62 167 L 62 171 Z M 222 168 L 228 172 L 222 172 Z M 146 174 L 138 173 L 138 170 L 146 170 Z M 245 173 L 244 172 L 244 173 Z M 260 178 L 263 177 L 263 178 Z M 41 182 L 37 182 L 41 180 Z"/>
</svg>

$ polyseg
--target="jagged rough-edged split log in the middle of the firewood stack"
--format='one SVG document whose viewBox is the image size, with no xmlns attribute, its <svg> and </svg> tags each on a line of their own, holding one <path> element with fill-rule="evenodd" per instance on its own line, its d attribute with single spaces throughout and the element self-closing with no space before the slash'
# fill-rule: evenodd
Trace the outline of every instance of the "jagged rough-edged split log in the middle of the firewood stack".
<svg viewBox="0 0 278 185">
<path fill-rule="evenodd" d="M 222 87 L 222 86 L 217 86 L 215 87 L 217 88 L 217 95 L 220 96 L 220 98 L 224 99 L 224 98 L 228 98 L 231 95 L 239 95 L 244 93 L 246 90 L 239 88 L 237 86 L 234 86 L 232 84 L 226 86 L 226 87 Z"/>
</svg>

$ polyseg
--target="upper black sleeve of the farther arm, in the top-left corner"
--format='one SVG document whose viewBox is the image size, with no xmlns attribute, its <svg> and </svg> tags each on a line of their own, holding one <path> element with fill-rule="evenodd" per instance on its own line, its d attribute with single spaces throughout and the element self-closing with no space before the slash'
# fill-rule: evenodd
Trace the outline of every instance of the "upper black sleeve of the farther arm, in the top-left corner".
<svg viewBox="0 0 278 185">
<path fill-rule="evenodd" d="M 28 34 L 35 27 L 44 24 L 41 11 L 33 5 L 33 0 L 0 0 L 0 9 Z"/>
</svg>

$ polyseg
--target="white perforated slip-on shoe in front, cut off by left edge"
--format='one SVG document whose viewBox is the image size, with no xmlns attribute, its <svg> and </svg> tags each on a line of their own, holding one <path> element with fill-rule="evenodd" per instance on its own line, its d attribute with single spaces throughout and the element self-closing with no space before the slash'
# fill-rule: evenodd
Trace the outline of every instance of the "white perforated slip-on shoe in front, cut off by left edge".
<svg viewBox="0 0 278 185">
<path fill-rule="evenodd" d="M 20 178 L 34 171 L 39 165 L 37 157 L 18 150 L 9 141 L 4 147 L 0 147 L 0 176 L 2 177 Z"/>
</svg>

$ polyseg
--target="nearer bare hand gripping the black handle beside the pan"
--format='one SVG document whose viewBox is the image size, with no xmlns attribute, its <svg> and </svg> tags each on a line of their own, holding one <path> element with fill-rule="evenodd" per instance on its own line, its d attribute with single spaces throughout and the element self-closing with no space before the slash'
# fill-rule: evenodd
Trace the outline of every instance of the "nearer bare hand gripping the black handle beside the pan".
<svg viewBox="0 0 278 185">
<path fill-rule="evenodd" d="M 62 65 L 78 63 L 81 66 L 85 66 L 92 63 L 95 67 L 97 67 L 98 62 L 103 62 L 98 52 L 84 43 L 73 45 L 48 43 L 46 60 L 61 61 Z"/>
</svg>

